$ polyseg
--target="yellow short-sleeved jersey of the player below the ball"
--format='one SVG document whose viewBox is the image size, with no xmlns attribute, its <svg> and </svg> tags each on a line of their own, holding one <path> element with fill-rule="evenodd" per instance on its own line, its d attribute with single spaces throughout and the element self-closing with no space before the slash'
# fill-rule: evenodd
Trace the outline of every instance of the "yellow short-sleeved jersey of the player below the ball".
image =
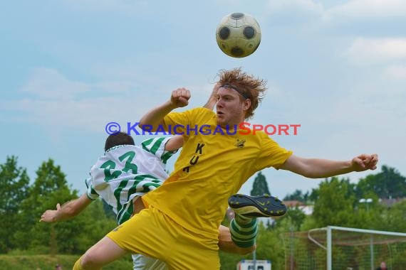
<svg viewBox="0 0 406 270">
<path fill-rule="evenodd" d="M 262 131 L 243 135 L 239 129 L 217 126 L 206 108 L 172 112 L 163 129 L 184 133 L 184 146 L 175 171 L 143 200 L 182 227 L 217 239 L 230 195 L 254 173 L 279 168 L 292 151 L 281 148 Z M 238 128 L 238 126 L 237 126 Z"/>
</svg>

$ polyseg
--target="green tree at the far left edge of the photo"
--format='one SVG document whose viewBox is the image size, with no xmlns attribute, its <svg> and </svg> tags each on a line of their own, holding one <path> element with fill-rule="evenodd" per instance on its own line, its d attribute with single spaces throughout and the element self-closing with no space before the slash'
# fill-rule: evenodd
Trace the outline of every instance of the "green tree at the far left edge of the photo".
<svg viewBox="0 0 406 270">
<path fill-rule="evenodd" d="M 0 164 L 0 253 L 16 247 L 15 225 L 19 224 L 21 201 L 26 198 L 29 178 L 25 168 L 17 166 L 16 156 Z"/>
</svg>

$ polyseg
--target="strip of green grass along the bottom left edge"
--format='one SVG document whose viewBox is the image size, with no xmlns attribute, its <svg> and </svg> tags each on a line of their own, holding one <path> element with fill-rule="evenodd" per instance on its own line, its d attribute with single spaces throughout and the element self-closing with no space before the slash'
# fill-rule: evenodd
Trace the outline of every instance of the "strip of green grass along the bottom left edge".
<svg viewBox="0 0 406 270">
<path fill-rule="evenodd" d="M 78 255 L 0 255 L 0 270 L 55 270 L 61 264 L 63 270 L 70 270 Z M 132 269 L 131 257 L 125 257 L 105 266 L 106 270 Z"/>
</svg>

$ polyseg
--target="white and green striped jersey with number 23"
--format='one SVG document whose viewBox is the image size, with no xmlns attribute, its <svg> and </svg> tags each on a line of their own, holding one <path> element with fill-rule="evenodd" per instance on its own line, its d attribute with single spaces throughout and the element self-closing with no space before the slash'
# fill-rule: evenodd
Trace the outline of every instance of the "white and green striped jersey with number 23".
<svg viewBox="0 0 406 270">
<path fill-rule="evenodd" d="M 101 196 L 121 224 L 132 215 L 132 199 L 158 188 L 168 177 L 165 164 L 175 152 L 165 151 L 170 137 L 142 141 L 141 146 L 110 148 L 90 170 L 86 179 L 88 198 Z"/>
</svg>

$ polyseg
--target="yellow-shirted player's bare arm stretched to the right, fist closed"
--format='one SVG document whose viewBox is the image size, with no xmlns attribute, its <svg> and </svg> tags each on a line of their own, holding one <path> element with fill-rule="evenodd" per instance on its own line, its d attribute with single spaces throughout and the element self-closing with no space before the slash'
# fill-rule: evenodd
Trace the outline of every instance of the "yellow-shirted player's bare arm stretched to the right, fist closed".
<svg viewBox="0 0 406 270">
<path fill-rule="evenodd" d="M 330 161 L 318 158 L 290 156 L 279 168 L 298 173 L 308 178 L 327 178 L 353 171 L 375 170 L 378 155 L 362 154 L 351 161 Z"/>
</svg>

